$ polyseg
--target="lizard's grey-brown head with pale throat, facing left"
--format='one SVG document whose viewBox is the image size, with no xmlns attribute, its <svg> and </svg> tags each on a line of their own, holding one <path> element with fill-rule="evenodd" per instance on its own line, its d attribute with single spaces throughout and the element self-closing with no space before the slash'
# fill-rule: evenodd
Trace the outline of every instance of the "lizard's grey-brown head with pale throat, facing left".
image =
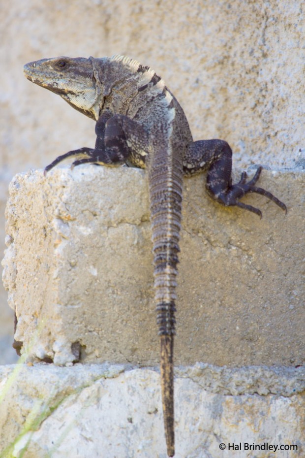
<svg viewBox="0 0 305 458">
<path fill-rule="evenodd" d="M 30 62 L 24 66 L 26 78 L 59 94 L 73 108 L 98 119 L 101 91 L 90 59 L 57 57 Z"/>
</svg>

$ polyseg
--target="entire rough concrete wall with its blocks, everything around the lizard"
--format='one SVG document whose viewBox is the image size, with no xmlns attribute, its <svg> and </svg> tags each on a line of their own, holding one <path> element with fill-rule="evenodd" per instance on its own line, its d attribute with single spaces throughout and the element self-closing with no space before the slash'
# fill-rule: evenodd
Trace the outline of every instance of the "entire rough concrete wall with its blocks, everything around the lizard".
<svg viewBox="0 0 305 458">
<path fill-rule="evenodd" d="M 0 50 L 0 237 L 3 241 L 4 206 L 13 175 L 42 168 L 63 152 L 94 144 L 94 124 L 91 120 L 72 110 L 59 97 L 24 78 L 22 66 L 43 57 L 101 57 L 119 53 L 150 65 L 163 77 L 183 106 L 194 139 L 218 137 L 230 143 L 234 151 L 234 165 L 238 168 L 236 176 L 242 168 L 252 164 L 263 164 L 273 170 L 264 171 L 260 183 L 287 203 L 288 214 L 285 216 L 262 197 L 248 197 L 247 201 L 255 202 L 262 208 L 262 221 L 240 210 L 220 209 L 205 196 L 201 177 L 186 182 L 185 202 L 188 205 L 185 205 L 183 214 L 184 251 L 179 278 L 179 294 L 184 307 L 180 308 L 179 322 L 186 325 L 185 331 L 181 329 L 177 338 L 177 362 L 187 365 L 188 357 L 188 364 L 196 360 L 209 362 L 213 364 L 213 373 L 218 370 L 215 364 L 230 365 L 230 377 L 234 378 L 237 386 L 243 379 L 252 380 L 253 373 L 258 373 L 259 377 L 255 378 L 251 388 L 244 382 L 241 392 L 232 387 L 227 391 L 217 391 L 215 385 L 209 382 L 206 370 L 203 370 L 203 378 L 199 382 L 194 381 L 194 371 L 200 372 L 201 366 L 199 369 L 196 365 L 192 366 L 183 373 L 177 369 L 177 457 L 224 457 L 228 449 L 221 452 L 220 442 L 228 446 L 229 442 L 258 444 L 266 441 L 298 444 L 298 452 L 294 453 L 302 456 L 304 438 L 300 416 L 304 387 L 299 381 L 301 369 L 295 368 L 304 363 L 304 290 L 300 260 L 304 257 L 302 110 L 305 83 L 301 60 L 304 12 L 300 2 L 12 0 L 9 3 L 1 1 L 0 6 L 3 18 Z M 115 172 L 119 173 L 114 175 Z M 132 294 L 136 294 L 144 327 L 151 329 L 144 337 L 134 327 L 132 320 L 137 315 L 132 310 L 128 315 L 131 321 L 124 322 L 120 316 L 121 330 L 117 334 L 110 332 L 108 336 L 95 320 L 96 316 L 98 319 L 101 317 L 101 312 L 92 315 L 95 318 L 91 317 L 91 330 L 86 334 L 86 329 L 79 326 L 82 323 L 76 313 L 77 307 L 66 309 L 64 314 L 59 313 L 63 308 L 56 313 L 48 308 L 50 304 L 54 305 L 55 297 L 60 297 L 59 292 L 63 302 L 66 294 L 66 302 L 72 297 L 72 305 L 84 305 L 86 300 L 92 304 L 91 296 L 84 298 L 86 291 L 94 296 L 92 285 L 97 285 L 95 291 L 98 296 L 101 288 L 97 281 L 93 282 L 94 272 L 99 272 L 100 266 L 91 264 L 86 257 L 86 234 L 77 234 L 76 223 L 62 218 L 66 215 L 60 203 L 65 199 L 70 199 L 74 216 L 79 208 L 78 220 L 74 221 L 82 222 L 87 229 L 90 227 L 93 235 L 98 234 L 101 228 L 107 229 L 107 236 L 112 236 L 115 244 L 116 240 L 125 236 L 128 228 L 128 253 L 131 255 L 125 256 L 125 259 L 134 267 L 137 256 L 140 255 L 141 260 L 146 256 L 145 262 L 149 266 L 149 223 L 143 173 L 133 170 L 127 174 L 122 172 L 83 167 L 73 173 L 67 169 L 62 172 L 56 170 L 43 180 L 41 172 L 35 171 L 16 177 L 11 185 L 7 233 L 12 238 L 7 238 L 5 284 L 10 290 L 10 305 L 18 304 L 23 318 L 18 332 L 25 341 L 29 364 L 48 355 L 57 359 L 58 363 L 71 364 L 71 342 L 83 342 L 85 337 L 87 350 L 81 342 L 81 359 L 84 361 L 108 359 L 110 362 L 125 363 L 127 360 L 143 364 L 155 364 L 157 361 L 149 267 L 145 272 L 137 272 L 136 278 L 123 279 L 125 285 L 128 284 L 125 297 L 118 285 L 108 285 L 109 300 L 115 305 L 118 305 L 119 299 L 120 304 L 127 303 L 125 299 L 134 301 Z M 121 183 L 118 183 L 119 176 L 120 179 L 122 176 Z M 120 186 L 134 190 L 137 184 L 137 189 L 141 190 L 137 205 L 135 199 L 131 199 L 128 207 L 121 205 L 118 208 L 119 213 L 125 215 L 125 220 L 117 221 L 117 227 L 111 228 L 113 221 L 108 218 L 109 214 L 106 222 L 100 219 L 101 216 L 98 220 L 93 218 L 90 209 L 86 210 L 85 199 L 78 202 L 75 198 L 74 190 L 82 188 L 89 200 L 92 188 L 88 181 L 94 178 L 99 182 L 101 177 L 113 187 L 109 199 L 115 196 L 114 187 L 116 192 L 120 191 Z M 63 191 L 64 186 L 66 191 Z M 96 205 L 100 211 L 101 203 Z M 113 210 L 115 205 L 110 208 Z M 130 219 L 133 219 L 132 224 Z M 39 230 L 43 223 L 48 229 L 45 239 L 41 238 Z M 65 230 L 69 230 L 69 234 Z M 54 247 L 52 242 L 56 239 L 52 237 L 58 235 L 61 243 Z M 103 248 L 108 256 L 107 262 L 111 262 L 113 245 L 101 239 L 98 241 L 97 235 L 94 237 L 93 246 Z M 72 250 L 72 264 L 63 275 L 63 260 L 69 248 Z M 74 255 L 78 254 L 74 265 L 73 249 Z M 85 255 L 81 260 L 79 253 L 82 249 Z M 60 276 L 56 277 L 55 255 L 59 255 L 57 267 L 62 267 L 63 283 Z M 53 269 L 52 277 L 46 274 L 47 256 L 52 260 L 49 266 Z M 18 271 L 14 271 L 16 260 Z M 110 265 L 117 269 L 116 272 L 122 273 L 113 259 Z M 83 288 L 79 274 L 78 295 L 68 297 L 72 288 L 67 288 L 69 283 L 66 282 L 71 269 L 80 268 L 81 272 L 84 267 L 88 273 L 92 266 L 91 283 L 88 276 L 88 285 L 84 278 L 85 286 L 89 288 Z M 203 286 L 200 285 L 200 269 L 206 278 Z M 14 286 L 14 272 L 17 272 L 18 288 Z M 134 289 L 132 282 L 139 278 L 143 280 L 142 288 L 139 290 L 137 285 Z M 54 290 L 55 285 L 57 289 Z M 205 291 L 206 295 L 203 294 Z M 230 294 L 227 294 L 228 291 Z M 185 308 L 187 301 L 183 299 L 183 294 L 186 298 L 197 298 L 202 306 Z M 104 314 L 107 315 L 107 312 L 109 314 L 106 304 Z M 4 289 L 0 295 L 0 315 L 0 362 L 4 364 L 16 361 L 10 348 L 13 316 Z M 49 318 L 49 321 L 43 322 L 43 317 Z M 69 326 L 71 318 L 74 318 L 72 327 Z M 90 319 L 88 316 L 85 318 Z M 44 328 L 41 323 L 48 326 Z M 204 332 L 200 332 L 202 327 Z M 52 332 L 47 332 L 51 328 Z M 107 330 L 107 326 L 105 328 Z M 32 346 L 30 332 L 35 329 L 39 331 L 36 335 L 40 347 L 37 343 Z M 83 334 L 78 332 L 84 329 Z M 137 331 L 133 340 L 132 332 L 128 334 L 132 329 Z M 120 337 L 122 348 L 117 351 Z M 137 343 L 136 337 L 143 340 Z M 105 352 L 108 352 L 107 356 Z M 252 364 L 256 364 L 255 369 L 251 369 Z M 262 364 L 281 366 L 272 375 L 272 385 L 268 385 L 268 371 L 271 369 L 267 368 L 264 372 Z M 237 366 L 245 368 L 236 369 Z M 285 372 L 287 366 L 290 366 L 289 376 Z M 55 368 L 42 364 L 18 369 L 20 373 L 17 377 L 14 370 L 13 366 L 1 367 L 4 401 L 0 398 L 0 424 L 8 428 L 0 428 L 1 457 L 19 457 L 21 453 L 25 453 L 23 456 L 27 458 L 50 454 L 66 457 L 67 450 L 73 450 L 75 457 L 108 458 L 116 454 L 120 457 L 165 456 L 158 378 L 154 371 L 128 371 L 123 366 L 117 372 L 110 370 L 109 376 L 109 371 L 105 373 L 100 366 Z M 64 370 L 70 370 L 66 379 Z M 94 382 L 103 378 L 107 379 L 106 385 Z M 227 387 L 228 384 L 227 377 L 221 379 L 221 386 Z M 287 384 L 291 386 L 290 391 L 285 388 Z M 32 386 L 37 389 L 33 391 Z M 49 390 L 50 397 L 45 395 L 44 390 Z M 118 395 L 120 390 L 122 396 Z M 113 394 L 103 397 L 102 393 Z M 37 404 L 39 399 L 44 398 L 48 402 Z M 73 410 L 74 401 L 76 407 Z M 60 404 L 62 410 L 58 408 Z M 97 410 L 93 412 L 91 405 L 95 404 L 98 404 Z M 120 417 L 122 406 L 127 406 L 122 414 L 124 420 Z M 66 419 L 75 413 L 78 424 L 70 427 Z M 78 420 L 82 417 L 83 422 Z M 90 425 L 90 418 L 96 425 L 101 425 L 104 434 Z M 106 428 L 108 424 L 111 425 L 109 430 Z M 52 435 L 59 427 L 62 431 L 70 431 L 72 436 L 62 441 L 56 433 L 55 445 L 52 445 Z M 10 443 L 12 447 L 6 448 Z M 98 443 L 102 444 L 102 449 L 96 445 Z M 264 451 L 260 453 L 259 457 L 267 456 Z M 280 456 L 290 458 L 291 453 L 282 451 Z M 252 458 L 253 451 L 236 451 L 234 456 Z"/>
</svg>

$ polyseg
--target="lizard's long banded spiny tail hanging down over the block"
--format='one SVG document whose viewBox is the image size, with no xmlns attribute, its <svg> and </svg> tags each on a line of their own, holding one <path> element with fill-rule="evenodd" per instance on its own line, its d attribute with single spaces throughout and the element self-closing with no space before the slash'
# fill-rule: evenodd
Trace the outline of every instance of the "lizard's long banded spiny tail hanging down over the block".
<svg viewBox="0 0 305 458">
<path fill-rule="evenodd" d="M 149 165 L 154 287 L 160 336 L 160 371 L 167 454 L 175 454 L 174 365 L 176 276 L 181 228 L 182 155 L 171 146 L 153 154 Z"/>
</svg>

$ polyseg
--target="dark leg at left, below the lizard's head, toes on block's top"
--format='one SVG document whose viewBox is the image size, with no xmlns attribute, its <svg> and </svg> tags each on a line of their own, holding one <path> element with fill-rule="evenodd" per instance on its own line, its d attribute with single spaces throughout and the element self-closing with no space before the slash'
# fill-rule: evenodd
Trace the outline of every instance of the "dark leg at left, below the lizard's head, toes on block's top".
<svg viewBox="0 0 305 458">
<path fill-rule="evenodd" d="M 56 158 L 44 169 L 46 174 L 51 168 L 69 157 L 78 157 L 71 165 L 100 164 L 119 166 L 132 162 L 132 154 L 140 145 L 147 149 L 147 134 L 142 126 L 127 116 L 114 115 L 105 112 L 95 125 L 96 141 L 94 148 L 83 147 Z"/>
</svg>

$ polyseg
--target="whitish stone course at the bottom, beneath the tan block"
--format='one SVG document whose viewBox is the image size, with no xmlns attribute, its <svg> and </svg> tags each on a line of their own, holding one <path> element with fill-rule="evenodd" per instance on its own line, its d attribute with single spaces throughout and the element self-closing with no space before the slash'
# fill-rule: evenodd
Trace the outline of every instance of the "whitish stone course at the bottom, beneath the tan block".
<svg viewBox="0 0 305 458">
<path fill-rule="evenodd" d="M 304 375 L 302 368 L 178 368 L 175 457 L 303 457 Z M 2 366 L 0 380 L 1 458 L 166 458 L 154 370 L 19 364 Z M 274 446 L 286 449 L 275 454 Z"/>
</svg>

